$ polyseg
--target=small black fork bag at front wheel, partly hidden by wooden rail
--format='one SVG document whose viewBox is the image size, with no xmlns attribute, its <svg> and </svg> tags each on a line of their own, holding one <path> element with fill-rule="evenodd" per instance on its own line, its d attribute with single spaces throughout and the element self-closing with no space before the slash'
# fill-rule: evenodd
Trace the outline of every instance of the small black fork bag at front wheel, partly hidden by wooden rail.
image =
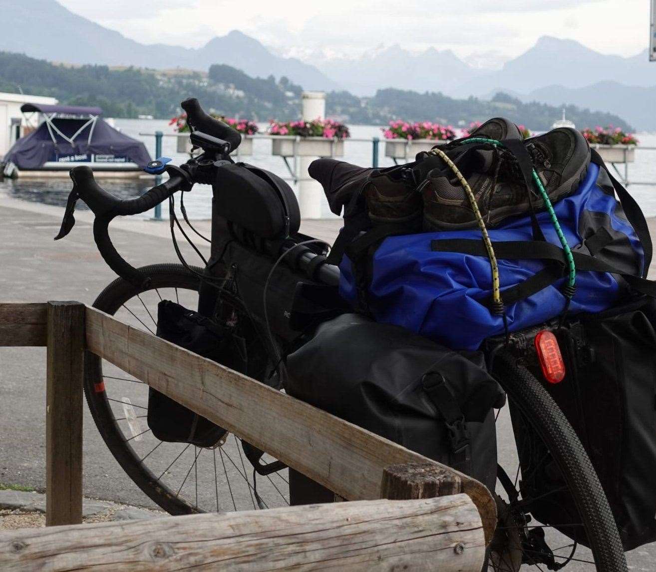
<svg viewBox="0 0 656 572">
<path fill-rule="evenodd" d="M 157 306 L 157 336 L 233 370 L 245 366 L 243 340 L 226 335 L 211 320 L 169 300 Z M 222 427 L 152 387 L 148 389 L 148 427 L 161 441 L 197 447 L 215 446 L 226 434 Z"/>
</svg>

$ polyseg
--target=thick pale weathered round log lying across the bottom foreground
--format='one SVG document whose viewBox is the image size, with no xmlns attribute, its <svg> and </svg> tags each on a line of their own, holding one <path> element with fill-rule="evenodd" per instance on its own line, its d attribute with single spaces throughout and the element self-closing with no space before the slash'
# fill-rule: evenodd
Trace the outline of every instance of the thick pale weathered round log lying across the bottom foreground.
<svg viewBox="0 0 656 572">
<path fill-rule="evenodd" d="M 169 516 L 0 532 L 0 569 L 440 570 L 479 572 L 467 495 Z"/>
</svg>

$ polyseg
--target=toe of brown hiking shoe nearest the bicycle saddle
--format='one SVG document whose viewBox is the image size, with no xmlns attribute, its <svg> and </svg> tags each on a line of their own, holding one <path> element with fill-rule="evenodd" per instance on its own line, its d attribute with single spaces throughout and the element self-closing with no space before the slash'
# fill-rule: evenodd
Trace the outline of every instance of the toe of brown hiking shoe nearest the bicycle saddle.
<svg viewBox="0 0 656 572">
<path fill-rule="evenodd" d="M 422 200 L 410 168 L 376 169 L 369 174 L 364 197 L 374 226 L 407 225 L 408 232 L 421 229 Z"/>
</svg>

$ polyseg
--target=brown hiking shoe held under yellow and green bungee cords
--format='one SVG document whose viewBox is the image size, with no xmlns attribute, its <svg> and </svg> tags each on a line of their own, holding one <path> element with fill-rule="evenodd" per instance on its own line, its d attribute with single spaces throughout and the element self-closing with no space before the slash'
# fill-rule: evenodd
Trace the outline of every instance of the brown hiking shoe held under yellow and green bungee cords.
<svg viewBox="0 0 656 572">
<path fill-rule="evenodd" d="M 534 168 L 552 202 L 573 193 L 590 164 L 588 142 L 578 131 L 562 127 L 525 140 Z M 509 151 L 493 145 L 462 152 L 456 166 L 467 180 L 485 225 L 494 227 L 509 216 L 528 212 L 533 202 L 543 208 L 543 200 L 531 185 L 531 202 L 522 172 Z M 435 169 L 420 185 L 424 202 L 424 231 L 476 228 L 470 200 L 458 178 L 450 170 Z"/>
</svg>

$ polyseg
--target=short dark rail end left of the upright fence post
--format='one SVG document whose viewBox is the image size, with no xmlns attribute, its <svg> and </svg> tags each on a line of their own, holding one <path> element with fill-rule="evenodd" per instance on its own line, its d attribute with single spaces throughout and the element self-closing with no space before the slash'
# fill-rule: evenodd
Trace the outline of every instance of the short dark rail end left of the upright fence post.
<svg viewBox="0 0 656 572">
<path fill-rule="evenodd" d="M 0 303 L 0 347 L 46 345 L 45 303 Z"/>
</svg>

